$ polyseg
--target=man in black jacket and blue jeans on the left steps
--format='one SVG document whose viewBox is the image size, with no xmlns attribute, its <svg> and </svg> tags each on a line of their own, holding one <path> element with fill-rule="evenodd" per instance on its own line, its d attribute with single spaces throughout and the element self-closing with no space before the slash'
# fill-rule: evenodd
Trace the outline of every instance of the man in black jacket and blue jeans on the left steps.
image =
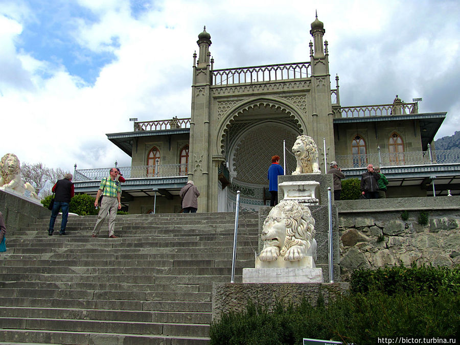
<svg viewBox="0 0 460 345">
<path fill-rule="evenodd" d="M 67 216 L 68 216 L 68 205 L 70 200 L 74 197 L 74 183 L 72 183 L 72 174 L 65 174 L 64 178 L 58 180 L 52 189 L 53 193 L 56 193 L 54 198 L 53 209 L 51 210 L 51 219 L 50 219 L 50 228 L 48 229 L 48 235 L 52 236 L 54 232 L 54 222 L 59 213 L 59 210 L 62 209 L 62 221 L 61 221 L 61 230 L 59 235 L 65 234 L 65 226 L 67 225 Z"/>
</svg>

